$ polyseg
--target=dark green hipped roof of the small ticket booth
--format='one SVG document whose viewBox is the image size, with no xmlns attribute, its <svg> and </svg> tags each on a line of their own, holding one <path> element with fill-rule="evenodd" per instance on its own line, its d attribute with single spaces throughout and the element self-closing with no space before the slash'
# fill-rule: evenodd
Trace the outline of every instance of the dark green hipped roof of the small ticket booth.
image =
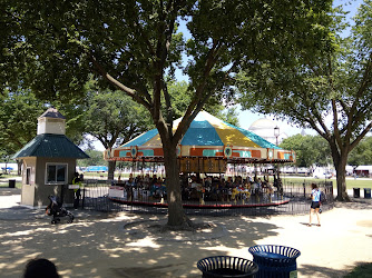
<svg viewBox="0 0 372 278">
<path fill-rule="evenodd" d="M 48 158 L 89 158 L 65 135 L 38 135 L 12 158 L 48 157 Z"/>
</svg>

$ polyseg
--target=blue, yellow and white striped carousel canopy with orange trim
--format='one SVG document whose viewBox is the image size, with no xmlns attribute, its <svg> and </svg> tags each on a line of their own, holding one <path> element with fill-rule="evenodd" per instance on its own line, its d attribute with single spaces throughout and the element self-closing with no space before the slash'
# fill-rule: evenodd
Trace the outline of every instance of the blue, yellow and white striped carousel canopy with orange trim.
<svg viewBox="0 0 372 278">
<path fill-rule="evenodd" d="M 174 122 L 174 130 L 182 119 Z M 262 137 L 200 111 L 178 145 L 179 158 L 217 158 L 227 162 L 293 162 L 286 151 Z M 107 160 L 161 160 L 163 146 L 157 129 L 149 130 L 125 145 L 109 149 Z"/>
</svg>

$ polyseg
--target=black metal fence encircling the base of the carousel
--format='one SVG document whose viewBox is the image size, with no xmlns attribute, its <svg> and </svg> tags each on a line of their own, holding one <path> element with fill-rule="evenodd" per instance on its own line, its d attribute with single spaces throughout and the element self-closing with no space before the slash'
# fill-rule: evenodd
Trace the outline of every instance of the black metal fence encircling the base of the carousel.
<svg viewBox="0 0 372 278">
<path fill-rule="evenodd" d="M 84 209 L 99 211 L 133 211 L 148 214 L 167 214 L 165 196 L 153 197 L 148 190 L 136 188 L 117 188 L 100 180 L 87 180 L 82 190 Z M 317 182 L 324 193 L 322 210 L 334 206 L 333 182 Z M 116 195 L 112 196 L 112 190 Z M 120 191 L 121 190 L 121 191 Z M 311 182 L 287 182 L 280 191 L 263 191 L 260 193 L 238 192 L 224 198 L 211 199 L 204 192 L 198 199 L 184 199 L 184 209 L 188 215 L 212 216 L 263 216 L 263 215 L 298 215 L 307 214 L 310 209 Z"/>
</svg>

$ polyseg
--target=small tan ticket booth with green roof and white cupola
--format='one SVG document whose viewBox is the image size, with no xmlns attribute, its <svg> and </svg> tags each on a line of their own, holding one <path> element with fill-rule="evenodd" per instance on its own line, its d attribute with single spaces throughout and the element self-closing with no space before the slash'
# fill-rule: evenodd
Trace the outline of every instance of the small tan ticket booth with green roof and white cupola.
<svg viewBox="0 0 372 278">
<path fill-rule="evenodd" d="M 66 132 L 66 118 L 49 108 L 38 118 L 37 136 L 13 158 L 22 160 L 21 205 L 45 207 L 48 196 L 59 197 L 66 206 L 74 202 L 68 189 L 76 169 L 76 160 L 89 158 Z"/>
</svg>

